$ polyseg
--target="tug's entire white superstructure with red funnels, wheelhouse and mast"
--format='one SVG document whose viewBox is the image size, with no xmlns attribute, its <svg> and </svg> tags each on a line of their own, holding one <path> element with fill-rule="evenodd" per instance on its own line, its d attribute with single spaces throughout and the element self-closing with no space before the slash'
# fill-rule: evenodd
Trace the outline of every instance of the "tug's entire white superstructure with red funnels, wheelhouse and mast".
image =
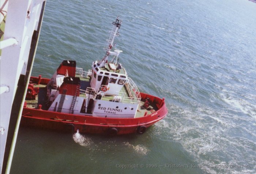
<svg viewBox="0 0 256 174">
<path fill-rule="evenodd" d="M 93 62 L 89 72 L 76 68 L 75 61 L 61 63 L 47 84 L 48 111 L 105 118 L 136 117 L 140 92 L 118 63 L 122 51 L 111 52 L 121 21 L 117 18 L 112 24 L 106 54 L 101 61 Z M 114 57 L 108 62 L 110 55 Z"/>
</svg>

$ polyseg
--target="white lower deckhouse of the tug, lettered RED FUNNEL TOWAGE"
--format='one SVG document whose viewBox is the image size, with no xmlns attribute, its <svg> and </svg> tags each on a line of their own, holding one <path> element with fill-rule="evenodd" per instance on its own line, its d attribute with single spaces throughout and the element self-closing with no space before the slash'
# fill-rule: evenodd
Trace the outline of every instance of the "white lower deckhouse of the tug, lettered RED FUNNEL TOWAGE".
<svg viewBox="0 0 256 174">
<path fill-rule="evenodd" d="M 88 87 L 86 91 L 80 89 L 80 94 L 82 94 L 82 97 L 76 98 L 73 113 L 78 115 L 85 115 L 86 112 L 83 112 L 82 108 L 85 106 L 85 108 L 88 109 L 89 100 L 93 99 L 94 105 L 90 108 L 90 110 L 93 111 L 92 113 L 86 113 L 86 115 L 108 118 L 134 118 L 140 104 L 141 97 L 139 90 L 132 79 L 128 78 L 126 85 L 129 89 L 134 91 L 134 96 L 127 97 L 126 93 L 119 91 L 118 95 L 110 95 L 102 91 L 95 92 L 97 90 L 91 87 Z M 113 88 L 117 88 L 119 86 L 119 84 L 115 84 Z M 52 102 L 48 109 L 49 111 L 56 111 L 57 107 L 59 107 L 61 103 L 61 96 L 62 94 L 59 94 L 58 90 L 51 90 L 48 95 L 49 101 Z M 100 99 L 97 99 L 97 96 L 101 96 Z M 72 95 L 65 95 L 63 105 L 61 106 L 61 113 L 70 112 L 70 106 L 72 105 L 73 97 L 74 96 Z M 110 98 L 112 98 L 112 101 L 110 101 Z"/>
</svg>

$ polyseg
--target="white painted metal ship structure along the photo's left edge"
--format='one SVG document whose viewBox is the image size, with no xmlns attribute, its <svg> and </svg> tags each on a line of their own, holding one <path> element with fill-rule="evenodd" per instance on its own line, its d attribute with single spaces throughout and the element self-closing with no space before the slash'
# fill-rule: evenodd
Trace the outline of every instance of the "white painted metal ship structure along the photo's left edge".
<svg viewBox="0 0 256 174">
<path fill-rule="evenodd" d="M 11 117 L 11 109 L 14 102 L 15 93 L 17 90 L 20 75 L 30 77 L 30 72 L 27 73 L 27 65 L 31 48 L 31 41 L 34 31 L 39 32 L 40 16 L 42 17 L 42 5 L 45 0 L 9 0 L 7 7 L 7 17 L 4 29 L 4 39 L 0 42 L 1 58 L 0 58 L 0 162 L 1 173 L 10 172 L 12 154 L 18 134 L 21 112 L 18 116 L 16 128 L 9 128 Z M 2 3 L 7 4 L 5 0 Z M 39 24 L 41 26 L 41 23 Z M 36 49 L 36 47 L 35 47 Z M 24 77 L 23 76 L 23 77 Z M 26 86 L 27 87 L 27 86 Z M 22 106 L 24 98 L 22 101 Z M 21 107 L 22 107 L 21 106 Z M 12 147 L 8 157 L 7 166 L 3 166 L 5 144 L 7 141 L 7 133 L 9 129 L 15 129 L 12 139 Z M 4 167 L 4 168 L 3 168 Z M 4 170 L 2 170 L 4 169 Z M 6 170 L 5 170 L 6 169 Z"/>
</svg>

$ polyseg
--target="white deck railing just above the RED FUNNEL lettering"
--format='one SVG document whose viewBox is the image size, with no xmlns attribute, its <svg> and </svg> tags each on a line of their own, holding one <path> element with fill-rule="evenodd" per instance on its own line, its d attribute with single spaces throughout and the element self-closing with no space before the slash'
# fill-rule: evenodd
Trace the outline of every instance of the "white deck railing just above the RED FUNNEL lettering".
<svg viewBox="0 0 256 174">
<path fill-rule="evenodd" d="M 137 97 L 127 97 L 127 93 L 125 92 L 119 92 L 118 95 L 111 95 L 111 94 L 96 92 L 94 88 L 89 88 L 89 87 L 87 87 L 86 91 L 80 89 L 81 96 L 82 95 L 86 96 L 86 94 L 92 95 L 94 99 L 100 99 L 100 100 L 112 101 L 112 102 L 121 102 L 121 103 L 131 103 L 131 104 L 139 104 L 141 99 Z"/>
</svg>

